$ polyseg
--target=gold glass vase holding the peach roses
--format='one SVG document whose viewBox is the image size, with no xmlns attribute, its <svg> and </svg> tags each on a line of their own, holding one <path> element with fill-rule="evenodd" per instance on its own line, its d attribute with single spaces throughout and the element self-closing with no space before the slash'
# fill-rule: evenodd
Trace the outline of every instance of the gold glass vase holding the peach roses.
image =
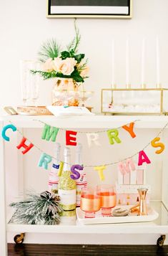
<svg viewBox="0 0 168 256">
<path fill-rule="evenodd" d="M 78 85 L 72 78 L 56 78 L 52 90 L 52 105 L 79 105 Z"/>
</svg>

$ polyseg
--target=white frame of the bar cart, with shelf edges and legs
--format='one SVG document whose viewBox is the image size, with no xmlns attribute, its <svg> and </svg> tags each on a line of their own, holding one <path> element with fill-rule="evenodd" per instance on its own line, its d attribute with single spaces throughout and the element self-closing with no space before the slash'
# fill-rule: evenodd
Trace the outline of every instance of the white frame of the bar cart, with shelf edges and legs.
<svg viewBox="0 0 168 256">
<path fill-rule="evenodd" d="M 68 116 L 59 117 L 55 116 L 21 116 L 10 115 L 0 118 L 0 128 L 8 124 L 9 121 L 16 125 L 18 128 L 42 128 L 43 121 L 49 125 L 58 128 L 80 128 L 80 129 L 108 129 L 117 128 L 124 124 L 130 123 L 134 120 L 139 120 L 135 123 L 136 129 L 161 129 L 168 122 L 167 116 L 105 116 L 105 115 L 92 115 L 92 116 Z M 168 128 L 168 127 L 167 127 Z M 158 130 L 158 131 L 159 131 Z M 7 224 L 6 218 L 6 185 L 5 185 L 5 163 L 4 163 L 4 141 L 1 138 L 0 143 L 0 207 L 1 207 L 1 246 L 0 255 L 6 254 L 6 232 L 14 233 L 50 233 L 50 234 L 168 234 L 168 194 L 166 181 L 162 188 L 162 200 L 160 202 L 152 202 L 152 207 L 159 213 L 159 218 L 154 222 L 143 223 L 125 223 L 125 224 L 87 224 L 81 225 L 76 223 L 74 226 L 48 226 L 48 225 L 23 225 L 23 224 Z M 168 180 L 168 173 L 165 169 L 168 168 L 167 164 L 162 166 L 162 182 Z M 121 242 L 122 243 L 122 242 Z"/>
</svg>

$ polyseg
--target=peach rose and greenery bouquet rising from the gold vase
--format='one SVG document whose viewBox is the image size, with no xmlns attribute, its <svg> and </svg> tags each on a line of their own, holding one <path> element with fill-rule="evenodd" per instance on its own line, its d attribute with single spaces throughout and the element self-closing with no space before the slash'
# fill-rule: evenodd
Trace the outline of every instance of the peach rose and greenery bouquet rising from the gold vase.
<svg viewBox="0 0 168 256">
<path fill-rule="evenodd" d="M 84 61 L 85 54 L 77 54 L 81 35 L 79 29 L 75 27 L 75 37 L 61 51 L 61 47 L 57 44 L 56 39 L 50 39 L 44 42 L 39 51 L 39 61 L 42 62 L 42 70 L 31 70 L 31 73 L 39 74 L 44 80 L 52 77 L 71 78 L 76 83 L 84 82 L 87 78 L 87 60 Z"/>
</svg>

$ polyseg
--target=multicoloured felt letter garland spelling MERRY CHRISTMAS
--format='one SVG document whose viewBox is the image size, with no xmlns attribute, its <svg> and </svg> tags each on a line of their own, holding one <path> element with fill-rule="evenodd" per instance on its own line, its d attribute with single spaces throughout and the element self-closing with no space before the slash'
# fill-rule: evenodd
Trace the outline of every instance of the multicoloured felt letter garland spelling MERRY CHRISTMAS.
<svg viewBox="0 0 168 256">
<path fill-rule="evenodd" d="M 39 120 L 39 122 L 43 123 L 40 120 Z M 129 136 L 131 136 L 132 138 L 136 137 L 136 133 L 134 133 L 134 123 L 135 122 L 137 122 L 137 120 L 135 120 L 134 122 L 128 123 L 127 125 L 122 125 L 121 127 L 118 127 L 118 128 L 112 128 L 112 129 L 108 129 L 106 131 L 97 131 L 94 133 L 89 133 L 89 132 L 84 132 L 84 131 L 82 131 L 82 132 L 70 131 L 70 130 L 66 130 L 66 129 L 62 129 L 62 128 L 56 128 L 54 126 L 44 123 L 44 128 L 42 131 L 41 139 L 46 140 L 46 141 L 51 140 L 52 142 L 55 142 L 56 136 L 59 133 L 59 130 L 64 130 L 66 132 L 66 146 L 76 146 L 76 134 L 77 133 L 86 133 L 88 144 L 89 144 L 89 146 L 91 146 L 92 143 L 94 143 L 95 145 L 99 145 L 99 135 L 97 133 L 100 133 L 100 132 L 105 133 L 106 132 L 107 136 L 109 138 L 109 143 L 111 145 L 114 145 L 114 143 L 122 142 L 119 138 L 119 131 L 118 131 L 119 128 L 123 128 L 124 131 L 126 131 L 129 134 Z M 137 155 L 138 155 L 138 166 L 142 166 L 143 163 L 147 163 L 147 164 L 151 163 L 147 154 L 144 152 L 144 149 L 147 148 L 149 145 L 151 145 L 154 148 L 159 148 L 159 149 L 157 149 L 157 151 L 155 151 L 155 153 L 157 153 L 157 154 L 162 153 L 164 151 L 164 143 L 160 142 L 159 135 L 164 131 L 164 129 L 167 127 L 167 125 L 168 125 L 168 123 L 166 123 L 164 125 L 164 127 L 159 131 L 157 136 L 152 141 L 149 141 L 149 143 L 147 143 L 147 145 L 144 146 L 144 148 L 142 148 L 141 151 L 138 151 L 137 153 L 134 153 L 132 156 L 122 159 L 122 161 L 116 161 L 116 162 L 112 162 L 112 163 L 104 163 L 103 165 L 99 165 L 99 166 L 89 166 L 89 165 L 80 166 L 79 164 L 71 166 L 71 172 L 72 172 L 71 179 L 79 179 L 79 176 L 80 176 L 79 173 L 84 167 L 92 167 L 92 168 L 94 168 L 95 171 L 98 171 L 99 178 L 102 181 L 104 180 L 104 170 L 106 169 L 106 166 L 112 166 L 112 165 L 118 163 L 119 170 L 122 172 L 122 174 L 125 174 L 131 170 L 134 171 L 135 166 L 134 166 L 134 161 L 132 161 L 132 158 Z M 31 148 L 33 148 L 33 147 L 35 147 L 39 151 L 41 151 L 41 156 L 39 158 L 39 163 L 38 163 L 39 167 L 43 167 L 44 169 L 47 170 L 48 164 L 51 163 L 52 159 L 58 160 L 54 156 L 50 156 L 49 154 L 46 154 L 44 151 L 41 150 L 41 148 L 34 145 L 34 143 L 32 143 L 28 138 L 25 138 L 24 134 L 21 133 L 21 131 L 19 131 L 19 129 L 16 128 L 16 126 L 13 125 L 12 123 L 9 125 L 5 125 L 1 131 L 1 136 L 2 136 L 2 138 L 4 138 L 5 141 L 10 141 L 9 136 L 6 135 L 6 131 L 8 131 L 9 129 L 11 129 L 13 132 L 18 131 L 21 134 L 21 136 L 22 136 L 21 142 L 19 143 L 18 146 L 16 146 L 16 148 L 18 148 L 18 149 L 24 148 L 24 150 L 21 151 L 21 153 L 25 154 L 28 151 L 30 151 Z M 29 142 L 29 145 L 26 145 L 26 141 Z M 61 171 L 63 169 L 64 163 L 65 163 L 64 161 L 61 161 L 59 164 L 59 176 L 61 175 Z"/>
</svg>

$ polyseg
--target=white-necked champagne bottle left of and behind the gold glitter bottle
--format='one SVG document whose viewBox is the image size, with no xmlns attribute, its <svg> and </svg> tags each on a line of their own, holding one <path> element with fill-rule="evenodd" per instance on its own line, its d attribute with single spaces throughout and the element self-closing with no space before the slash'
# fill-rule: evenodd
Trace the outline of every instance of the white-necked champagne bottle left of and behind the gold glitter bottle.
<svg viewBox="0 0 168 256">
<path fill-rule="evenodd" d="M 59 183 L 59 163 L 60 163 L 60 153 L 61 153 L 61 145 L 60 143 L 56 143 L 55 146 L 55 159 L 53 161 L 51 171 L 49 172 L 49 192 L 57 194 L 58 193 L 58 183 Z"/>
</svg>

